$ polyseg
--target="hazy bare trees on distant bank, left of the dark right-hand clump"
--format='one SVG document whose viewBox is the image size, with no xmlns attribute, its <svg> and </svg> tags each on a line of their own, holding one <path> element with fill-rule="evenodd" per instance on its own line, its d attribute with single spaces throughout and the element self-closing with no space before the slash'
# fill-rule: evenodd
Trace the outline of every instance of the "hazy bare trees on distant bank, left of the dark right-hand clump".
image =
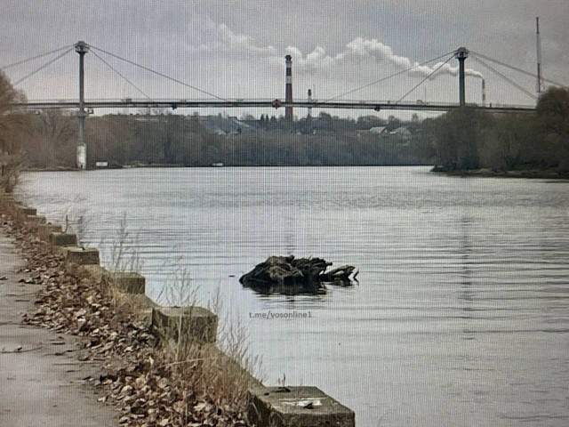
<svg viewBox="0 0 569 427">
<path fill-rule="evenodd" d="M 108 115 L 85 121 L 85 141 L 90 166 L 97 162 L 108 162 L 111 167 L 429 164 L 428 158 L 409 150 L 400 139 L 381 139 L 351 128 L 393 126 L 400 124 L 397 120 L 350 120 L 323 114 L 314 118 L 310 128 L 303 123 L 295 122 L 291 128 L 282 118 L 274 126 L 264 125 L 263 119 L 242 133 L 216 134 L 196 116 Z M 73 167 L 76 128 L 73 112 L 45 110 L 30 115 L 28 137 L 20 145 L 28 167 Z"/>
</svg>

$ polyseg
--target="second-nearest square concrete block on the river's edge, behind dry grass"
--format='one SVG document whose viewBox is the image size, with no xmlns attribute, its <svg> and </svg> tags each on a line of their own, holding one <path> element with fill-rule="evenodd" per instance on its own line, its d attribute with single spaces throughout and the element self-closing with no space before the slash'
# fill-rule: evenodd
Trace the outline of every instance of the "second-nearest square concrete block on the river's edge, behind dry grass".
<svg viewBox="0 0 569 427">
<path fill-rule="evenodd" d="M 152 310 L 152 327 L 163 340 L 215 342 L 217 316 L 203 307 L 162 307 Z"/>
</svg>

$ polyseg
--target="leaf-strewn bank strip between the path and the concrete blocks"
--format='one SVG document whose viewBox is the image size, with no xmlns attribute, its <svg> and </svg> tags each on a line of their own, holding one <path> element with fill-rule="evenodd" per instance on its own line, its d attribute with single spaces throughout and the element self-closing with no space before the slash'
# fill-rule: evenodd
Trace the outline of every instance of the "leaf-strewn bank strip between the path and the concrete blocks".
<svg viewBox="0 0 569 427">
<path fill-rule="evenodd" d="M 42 239 L 43 227 L 23 221 L 24 215 L 3 197 L 0 214 L 2 232 L 16 248 L 12 252 L 26 260 L 20 269 L 26 273 L 24 284 L 34 286 L 29 298 L 36 302 L 36 310 L 24 313 L 23 323 L 50 329 L 57 337 L 76 338 L 70 341 L 71 347 L 61 349 L 62 354 L 75 354 L 80 366 L 96 367 L 96 372 L 83 377 L 92 395 L 89 405 L 106 413 L 114 407 L 110 412 L 118 413 L 117 423 L 132 426 L 244 425 L 249 383 L 237 368 L 232 369 L 230 363 L 234 362 L 222 357 L 212 344 L 189 342 L 176 347 L 172 343 L 175 351 L 172 346 L 159 346 L 144 310 L 133 298 L 68 267 L 62 251 Z M 10 265 L 7 268 L 10 270 Z M 13 354 L 27 350 L 19 347 L 15 345 Z M 9 371 L 18 369 L 12 362 L 5 366 Z M 51 372 L 43 367 L 30 365 L 27 370 L 32 375 L 39 375 L 38 369 Z M 57 376 L 58 371 L 54 372 Z M 38 378 L 38 389 L 49 385 L 41 375 Z M 56 379 L 66 381 L 66 377 Z M 95 391 L 97 396 L 93 396 Z M 31 390 L 24 389 L 21 394 L 36 399 Z M 108 422 L 110 419 L 95 425 Z M 81 419 L 72 425 L 89 424 Z"/>
</svg>

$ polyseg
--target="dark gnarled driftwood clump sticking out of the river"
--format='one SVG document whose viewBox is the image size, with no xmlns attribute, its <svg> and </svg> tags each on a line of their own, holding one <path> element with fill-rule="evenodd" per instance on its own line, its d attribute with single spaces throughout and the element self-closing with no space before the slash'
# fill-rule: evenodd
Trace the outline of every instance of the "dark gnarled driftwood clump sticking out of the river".
<svg viewBox="0 0 569 427">
<path fill-rule="evenodd" d="M 325 293 L 325 283 L 350 286 L 357 280 L 355 267 L 343 265 L 326 271 L 332 262 L 322 258 L 295 258 L 289 256 L 269 256 L 267 261 L 257 264 L 253 270 L 239 278 L 247 287 L 265 292 L 278 290 L 286 294 L 309 292 Z M 351 278 L 350 278 L 351 277 Z"/>
</svg>

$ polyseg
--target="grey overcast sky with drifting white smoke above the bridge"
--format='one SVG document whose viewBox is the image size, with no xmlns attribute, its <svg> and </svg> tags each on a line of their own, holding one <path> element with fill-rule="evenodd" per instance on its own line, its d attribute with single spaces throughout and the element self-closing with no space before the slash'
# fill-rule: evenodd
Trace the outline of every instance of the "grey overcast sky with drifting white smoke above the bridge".
<svg viewBox="0 0 569 427">
<path fill-rule="evenodd" d="M 399 100 L 429 76 L 437 62 L 451 56 L 445 53 L 460 46 L 534 72 L 539 16 L 543 75 L 569 85 L 569 0 L 2 0 L 1 11 L 0 67 L 84 40 L 220 98 L 283 99 L 285 54 L 293 55 L 295 99 L 306 98 L 312 88 L 320 100 L 441 57 L 411 75 L 341 98 L 391 101 Z M 152 98 L 206 97 L 94 52 Z M 54 56 L 6 73 L 16 82 Z M 76 97 L 77 58 L 75 52 L 68 53 L 18 87 L 29 99 Z M 86 55 L 85 63 L 87 98 L 142 97 L 94 53 Z M 457 60 L 451 59 L 437 78 L 405 101 L 455 101 L 456 66 Z M 481 101 L 484 77 L 487 101 L 534 102 L 473 58 L 467 67 L 468 101 Z M 495 67 L 535 93 L 531 77 Z"/>
</svg>

